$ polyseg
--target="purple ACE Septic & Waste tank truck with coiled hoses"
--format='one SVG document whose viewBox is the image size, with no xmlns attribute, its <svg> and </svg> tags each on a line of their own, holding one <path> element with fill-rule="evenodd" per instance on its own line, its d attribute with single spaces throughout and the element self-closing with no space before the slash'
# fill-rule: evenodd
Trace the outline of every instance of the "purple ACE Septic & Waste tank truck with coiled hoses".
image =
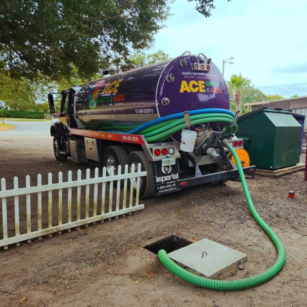
<svg viewBox="0 0 307 307">
<path fill-rule="evenodd" d="M 56 159 L 97 161 L 109 175 L 111 167 L 116 174 L 118 165 L 131 171 L 141 163 L 147 172 L 140 180 L 141 199 L 236 180 L 229 144 L 244 174 L 255 173 L 243 139 L 235 136 L 238 114 L 229 111 L 226 82 L 202 53 L 185 52 L 49 93 L 55 115 L 53 94 L 61 95 L 59 121 L 50 129 Z"/>
</svg>

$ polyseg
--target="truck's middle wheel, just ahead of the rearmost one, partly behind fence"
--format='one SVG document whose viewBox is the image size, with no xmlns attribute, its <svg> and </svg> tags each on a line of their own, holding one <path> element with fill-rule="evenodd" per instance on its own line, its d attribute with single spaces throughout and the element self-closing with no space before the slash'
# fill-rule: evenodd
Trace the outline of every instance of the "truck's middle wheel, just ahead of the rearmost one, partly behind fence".
<svg viewBox="0 0 307 307">
<path fill-rule="evenodd" d="M 122 146 L 109 146 L 103 154 L 103 165 L 107 168 L 107 173 L 110 176 L 111 167 L 114 167 L 114 175 L 117 175 L 117 167 L 121 165 L 122 174 L 125 171 L 127 160 L 126 150 Z"/>
</svg>

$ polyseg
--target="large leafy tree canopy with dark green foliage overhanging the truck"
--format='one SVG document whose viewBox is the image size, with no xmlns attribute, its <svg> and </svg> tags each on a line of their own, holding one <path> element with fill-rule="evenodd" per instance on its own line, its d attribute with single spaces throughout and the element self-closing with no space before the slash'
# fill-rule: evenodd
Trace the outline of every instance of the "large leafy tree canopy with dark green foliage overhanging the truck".
<svg viewBox="0 0 307 307">
<path fill-rule="evenodd" d="M 196 1 L 205 17 L 213 0 Z M 230 1 L 230 0 L 227 0 Z M 0 70 L 30 80 L 81 78 L 127 61 L 146 49 L 169 16 L 169 0 L 3 0 L 0 2 Z"/>
</svg>

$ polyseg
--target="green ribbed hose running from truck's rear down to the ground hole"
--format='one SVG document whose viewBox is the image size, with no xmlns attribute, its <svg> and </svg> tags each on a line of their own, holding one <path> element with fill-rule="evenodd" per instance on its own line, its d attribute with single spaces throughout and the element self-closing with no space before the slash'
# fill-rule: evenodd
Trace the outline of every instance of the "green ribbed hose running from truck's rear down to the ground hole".
<svg viewBox="0 0 307 307">
<path fill-rule="evenodd" d="M 239 157 L 235 151 L 235 149 L 230 146 L 229 150 L 235 157 L 235 162 L 238 167 L 239 176 L 241 179 L 244 195 L 248 204 L 248 207 L 251 210 L 251 214 L 255 218 L 256 222 L 260 225 L 260 227 L 266 232 L 266 234 L 270 237 L 270 239 L 275 244 L 275 247 L 277 249 L 277 259 L 275 263 L 266 271 L 252 276 L 248 278 L 238 279 L 238 280 L 218 280 L 218 279 L 210 279 L 201 277 L 198 275 L 195 275 L 193 273 L 190 273 L 180 266 L 178 266 L 176 263 L 174 263 L 166 254 L 165 250 L 160 250 L 158 252 L 158 257 L 160 261 L 163 263 L 163 265 L 169 269 L 173 274 L 180 277 L 181 279 L 185 280 L 186 282 L 189 282 L 193 285 L 212 289 L 212 290 L 242 290 L 251 288 L 254 286 L 258 286 L 262 284 L 263 282 L 266 282 L 273 278 L 278 272 L 282 269 L 285 260 L 286 260 L 286 252 L 282 245 L 282 242 L 278 238 L 278 236 L 274 233 L 274 231 L 262 220 L 262 218 L 257 213 L 254 204 L 251 200 L 251 196 L 249 194 L 247 183 L 244 177 L 243 169 L 241 166 L 241 162 L 239 160 Z M 192 256 L 192 255 L 191 255 Z"/>
</svg>

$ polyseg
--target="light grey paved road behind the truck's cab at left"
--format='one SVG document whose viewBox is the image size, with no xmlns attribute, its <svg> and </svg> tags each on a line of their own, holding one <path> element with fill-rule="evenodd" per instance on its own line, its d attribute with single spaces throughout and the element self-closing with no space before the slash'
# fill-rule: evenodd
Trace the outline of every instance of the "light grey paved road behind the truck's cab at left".
<svg viewBox="0 0 307 307">
<path fill-rule="evenodd" d="M 16 126 L 16 129 L 10 131 L 0 132 L 2 136 L 30 136 L 30 135 L 50 135 L 50 126 L 52 122 L 49 121 L 14 121 L 6 120 L 7 124 Z"/>
</svg>

